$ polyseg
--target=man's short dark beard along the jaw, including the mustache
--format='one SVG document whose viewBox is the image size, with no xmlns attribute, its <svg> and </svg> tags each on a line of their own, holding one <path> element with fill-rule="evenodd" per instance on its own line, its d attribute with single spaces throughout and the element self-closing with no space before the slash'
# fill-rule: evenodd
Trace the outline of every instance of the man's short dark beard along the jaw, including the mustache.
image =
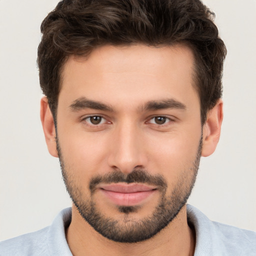
<svg viewBox="0 0 256 256">
<path fill-rule="evenodd" d="M 90 196 L 83 192 L 78 185 L 79 179 L 75 177 L 75 170 L 67 168 L 61 154 L 61 149 L 56 137 L 57 152 L 66 190 L 80 215 L 87 223 L 104 237 L 116 241 L 133 243 L 151 238 L 161 229 L 166 227 L 186 204 L 192 191 L 200 162 L 202 136 L 199 141 L 194 161 L 180 172 L 176 184 L 167 193 L 167 181 L 158 174 L 152 175 L 145 169 L 133 169 L 125 175 L 121 171 L 113 171 L 105 175 L 96 175 L 89 181 Z M 152 213 L 146 217 L 135 219 L 131 214 L 139 211 L 140 206 L 116 206 L 122 215 L 121 219 L 106 216 L 97 208 L 94 200 L 96 185 L 99 183 L 144 183 L 155 185 L 160 193 L 158 204 Z"/>
</svg>

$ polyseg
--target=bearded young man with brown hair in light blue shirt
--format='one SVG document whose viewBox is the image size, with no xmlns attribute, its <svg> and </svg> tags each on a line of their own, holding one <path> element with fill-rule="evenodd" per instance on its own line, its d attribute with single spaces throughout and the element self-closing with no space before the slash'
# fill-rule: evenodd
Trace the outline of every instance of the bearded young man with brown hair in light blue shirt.
<svg viewBox="0 0 256 256">
<path fill-rule="evenodd" d="M 186 205 L 222 122 L 225 46 L 195 0 L 64 0 L 41 25 L 41 121 L 73 201 L 0 255 L 255 255 Z"/>
</svg>

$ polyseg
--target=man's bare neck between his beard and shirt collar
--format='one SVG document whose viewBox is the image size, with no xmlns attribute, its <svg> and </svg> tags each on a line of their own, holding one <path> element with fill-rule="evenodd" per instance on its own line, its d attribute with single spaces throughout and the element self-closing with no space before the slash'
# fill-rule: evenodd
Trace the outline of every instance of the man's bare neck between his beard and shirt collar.
<svg viewBox="0 0 256 256">
<path fill-rule="evenodd" d="M 186 206 L 152 238 L 136 243 L 121 243 L 109 240 L 96 232 L 73 205 L 66 239 L 73 256 L 188 256 L 193 255 L 195 247 L 194 231 L 187 224 Z"/>
</svg>

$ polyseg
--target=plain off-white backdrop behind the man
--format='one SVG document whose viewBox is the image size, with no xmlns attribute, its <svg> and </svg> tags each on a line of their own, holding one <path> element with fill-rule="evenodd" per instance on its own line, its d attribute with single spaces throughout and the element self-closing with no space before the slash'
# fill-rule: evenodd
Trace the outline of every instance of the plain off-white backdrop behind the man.
<svg viewBox="0 0 256 256">
<path fill-rule="evenodd" d="M 0 0 L 0 240 L 49 225 L 70 206 L 39 119 L 40 23 L 57 0 Z M 228 54 L 224 121 L 189 199 L 210 219 L 256 231 L 256 0 L 204 0 Z"/>
</svg>

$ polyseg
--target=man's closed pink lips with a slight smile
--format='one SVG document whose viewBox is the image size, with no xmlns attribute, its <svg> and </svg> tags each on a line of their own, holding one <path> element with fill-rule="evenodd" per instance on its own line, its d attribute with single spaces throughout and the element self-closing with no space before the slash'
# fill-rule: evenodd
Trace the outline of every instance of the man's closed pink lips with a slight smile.
<svg viewBox="0 0 256 256">
<path fill-rule="evenodd" d="M 99 190 L 112 203 L 122 206 L 140 204 L 157 191 L 156 187 L 135 183 L 103 184 Z"/>
</svg>

